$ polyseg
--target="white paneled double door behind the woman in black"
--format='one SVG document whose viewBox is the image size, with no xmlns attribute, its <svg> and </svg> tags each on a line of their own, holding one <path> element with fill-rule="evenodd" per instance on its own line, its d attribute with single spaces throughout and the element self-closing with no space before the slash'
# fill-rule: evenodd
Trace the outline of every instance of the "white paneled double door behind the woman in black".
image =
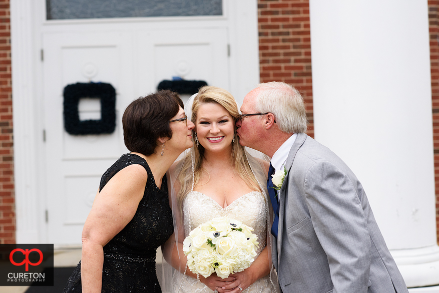
<svg viewBox="0 0 439 293">
<path fill-rule="evenodd" d="M 163 24 L 162 24 L 163 26 Z M 227 27 L 161 28 L 139 23 L 51 25 L 43 36 L 43 143 L 47 242 L 80 245 L 84 222 L 102 174 L 121 154 L 121 117 L 126 106 L 182 76 L 228 89 Z M 71 135 L 63 121 L 63 90 L 78 82 L 110 83 L 116 89 L 112 134 Z M 99 101 L 81 100 L 80 117 L 99 118 Z M 94 117 L 94 118 L 93 118 Z"/>
</svg>

